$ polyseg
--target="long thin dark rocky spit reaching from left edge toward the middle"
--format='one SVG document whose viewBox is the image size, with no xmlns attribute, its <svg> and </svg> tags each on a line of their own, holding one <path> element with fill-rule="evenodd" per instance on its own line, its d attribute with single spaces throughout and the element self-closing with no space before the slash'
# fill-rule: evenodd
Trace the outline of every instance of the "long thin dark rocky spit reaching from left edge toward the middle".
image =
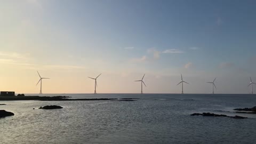
<svg viewBox="0 0 256 144">
<path fill-rule="evenodd" d="M 68 99 L 67 96 L 54 96 L 54 97 L 39 97 L 39 96 L 25 96 L 25 97 L 0 97 L 0 101 L 8 100 L 40 100 L 40 101 L 94 101 L 94 100 L 134 100 L 134 98 L 125 99 L 108 99 L 108 98 L 93 98 L 93 99 Z"/>
</svg>

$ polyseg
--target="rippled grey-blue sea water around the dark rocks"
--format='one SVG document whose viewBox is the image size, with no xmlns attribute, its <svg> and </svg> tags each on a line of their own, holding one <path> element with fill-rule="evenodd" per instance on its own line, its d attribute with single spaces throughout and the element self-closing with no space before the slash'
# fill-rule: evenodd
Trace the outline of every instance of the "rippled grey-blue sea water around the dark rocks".
<svg viewBox="0 0 256 144">
<path fill-rule="evenodd" d="M 44 94 L 138 101 L 0 101 L 15 115 L 0 119 L 0 143 L 256 143 L 249 94 Z M 38 109 L 59 105 L 63 109 Z M 36 108 L 33 110 L 33 108 Z M 215 112 L 226 110 L 230 112 Z M 210 112 L 250 117 L 190 116 Z"/>
</svg>

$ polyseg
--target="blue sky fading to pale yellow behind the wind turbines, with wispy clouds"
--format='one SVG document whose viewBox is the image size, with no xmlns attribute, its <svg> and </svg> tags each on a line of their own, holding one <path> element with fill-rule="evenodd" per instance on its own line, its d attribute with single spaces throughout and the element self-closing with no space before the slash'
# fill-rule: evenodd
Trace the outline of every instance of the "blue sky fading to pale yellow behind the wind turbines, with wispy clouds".
<svg viewBox="0 0 256 144">
<path fill-rule="evenodd" d="M 0 5 L 0 91 L 249 93 L 256 1 L 9 0 Z M 256 86 L 256 85 L 255 85 Z M 255 87 L 256 92 L 256 87 Z"/>
</svg>

